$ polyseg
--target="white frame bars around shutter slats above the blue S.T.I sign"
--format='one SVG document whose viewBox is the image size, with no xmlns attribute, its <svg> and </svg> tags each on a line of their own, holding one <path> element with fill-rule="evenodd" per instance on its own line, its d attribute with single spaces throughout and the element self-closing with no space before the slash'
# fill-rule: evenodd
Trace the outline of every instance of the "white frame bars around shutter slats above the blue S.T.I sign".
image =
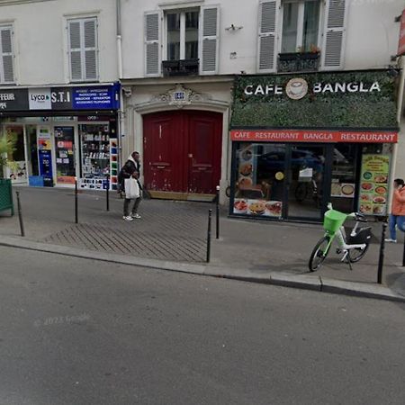
<svg viewBox="0 0 405 405">
<path fill-rule="evenodd" d="M 94 21 L 94 47 L 85 47 L 85 22 Z M 70 47 L 70 23 L 80 23 L 80 49 Z M 99 63 L 99 23 L 97 15 L 84 15 L 84 16 L 71 16 L 66 19 L 66 29 L 67 29 L 67 69 L 68 78 L 70 83 L 91 83 L 98 82 L 100 80 L 100 63 Z M 72 76 L 72 51 L 80 50 L 80 62 L 81 62 L 81 72 L 82 76 L 80 79 L 73 78 Z M 94 50 L 95 54 L 95 76 L 91 78 L 86 78 L 86 66 L 85 66 L 85 51 Z"/>
</svg>

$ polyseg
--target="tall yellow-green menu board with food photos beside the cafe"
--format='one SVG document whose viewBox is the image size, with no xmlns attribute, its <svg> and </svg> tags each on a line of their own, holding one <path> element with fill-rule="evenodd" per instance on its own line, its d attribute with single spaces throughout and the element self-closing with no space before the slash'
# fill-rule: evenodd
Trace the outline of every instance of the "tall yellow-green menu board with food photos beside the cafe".
<svg viewBox="0 0 405 405">
<path fill-rule="evenodd" d="M 367 215 L 386 215 L 390 157 L 363 155 L 359 210 Z"/>
</svg>

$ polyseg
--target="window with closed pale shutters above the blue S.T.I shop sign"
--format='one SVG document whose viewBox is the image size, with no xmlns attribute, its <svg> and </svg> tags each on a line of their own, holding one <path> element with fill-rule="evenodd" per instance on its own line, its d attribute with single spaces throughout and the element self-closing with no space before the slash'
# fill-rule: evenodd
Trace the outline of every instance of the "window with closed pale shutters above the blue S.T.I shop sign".
<svg viewBox="0 0 405 405">
<path fill-rule="evenodd" d="M 97 19 L 67 20 L 70 80 L 98 80 Z"/>
</svg>

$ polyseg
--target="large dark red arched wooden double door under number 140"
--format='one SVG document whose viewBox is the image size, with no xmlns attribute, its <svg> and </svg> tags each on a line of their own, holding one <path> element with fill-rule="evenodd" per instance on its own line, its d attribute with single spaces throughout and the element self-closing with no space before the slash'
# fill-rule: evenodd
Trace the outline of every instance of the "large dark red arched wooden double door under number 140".
<svg viewBox="0 0 405 405">
<path fill-rule="evenodd" d="M 222 115 L 158 112 L 143 118 L 144 177 L 149 191 L 213 194 L 220 181 Z"/>
</svg>

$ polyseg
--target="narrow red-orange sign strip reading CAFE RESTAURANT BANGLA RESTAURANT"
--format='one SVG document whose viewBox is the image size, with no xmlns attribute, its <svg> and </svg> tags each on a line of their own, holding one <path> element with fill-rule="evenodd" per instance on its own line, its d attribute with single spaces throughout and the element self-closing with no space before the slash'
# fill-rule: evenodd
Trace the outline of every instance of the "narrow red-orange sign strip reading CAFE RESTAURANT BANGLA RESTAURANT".
<svg viewBox="0 0 405 405">
<path fill-rule="evenodd" d="M 230 139 L 253 142 L 397 143 L 395 131 L 231 130 Z"/>
</svg>

